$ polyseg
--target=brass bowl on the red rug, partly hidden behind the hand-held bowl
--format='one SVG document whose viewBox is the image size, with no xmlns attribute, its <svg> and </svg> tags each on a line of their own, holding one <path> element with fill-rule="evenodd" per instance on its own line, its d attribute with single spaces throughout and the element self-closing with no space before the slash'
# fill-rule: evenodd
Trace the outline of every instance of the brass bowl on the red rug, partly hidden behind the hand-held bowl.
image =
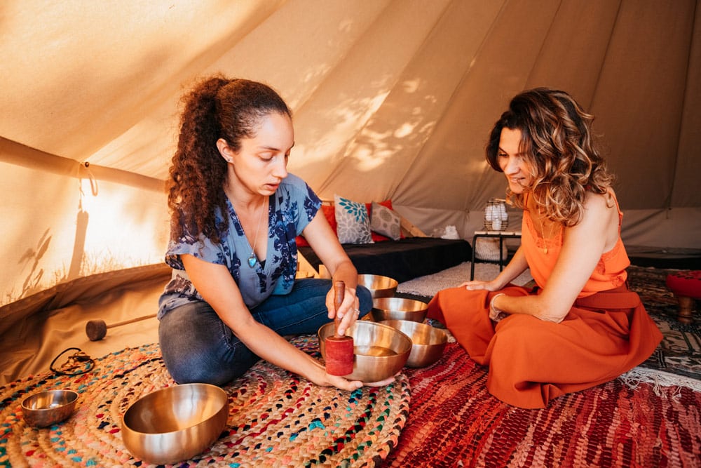
<svg viewBox="0 0 701 468">
<path fill-rule="evenodd" d="M 385 320 L 380 323 L 396 328 L 411 338 L 407 367 L 430 366 L 443 355 L 448 335 L 440 328 L 408 320 Z"/>
</svg>

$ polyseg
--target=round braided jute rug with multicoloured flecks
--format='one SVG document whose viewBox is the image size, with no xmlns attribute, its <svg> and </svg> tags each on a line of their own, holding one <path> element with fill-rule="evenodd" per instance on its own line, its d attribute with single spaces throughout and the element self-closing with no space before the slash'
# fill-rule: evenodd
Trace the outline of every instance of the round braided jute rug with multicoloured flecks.
<svg viewBox="0 0 701 468">
<path fill-rule="evenodd" d="M 292 343 L 320 356 L 316 337 Z M 141 396 L 172 385 L 153 344 L 97 359 L 83 375 L 45 373 L 0 387 L 0 466 L 148 466 L 124 447 L 121 416 Z M 78 392 L 76 411 L 50 427 L 27 426 L 22 400 L 49 389 Z M 224 390 L 224 432 L 205 453 L 175 466 L 374 467 L 397 446 L 409 410 L 403 374 L 386 387 L 345 392 L 261 361 Z"/>
</svg>

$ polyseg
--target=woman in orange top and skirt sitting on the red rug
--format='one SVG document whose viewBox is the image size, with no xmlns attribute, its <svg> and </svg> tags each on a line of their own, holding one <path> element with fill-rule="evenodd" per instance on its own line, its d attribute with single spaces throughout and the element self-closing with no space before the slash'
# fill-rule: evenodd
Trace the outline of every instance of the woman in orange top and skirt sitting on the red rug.
<svg viewBox="0 0 701 468">
<path fill-rule="evenodd" d="M 428 308 L 489 366 L 489 392 L 513 406 L 544 408 L 613 380 L 662 340 L 627 288 L 622 213 L 592 141 L 593 119 L 564 91 L 512 99 L 486 159 L 524 210 L 521 246 L 495 279 L 442 290 Z M 526 269 L 533 290 L 510 283 Z"/>
</svg>

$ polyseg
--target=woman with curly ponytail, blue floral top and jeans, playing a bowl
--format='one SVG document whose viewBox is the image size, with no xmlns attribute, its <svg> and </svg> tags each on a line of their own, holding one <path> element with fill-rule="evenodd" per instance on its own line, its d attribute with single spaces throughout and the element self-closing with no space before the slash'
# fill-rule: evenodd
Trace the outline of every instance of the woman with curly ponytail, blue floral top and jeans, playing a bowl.
<svg viewBox="0 0 701 468">
<path fill-rule="evenodd" d="M 363 385 L 327 374 L 283 337 L 336 314 L 343 333 L 372 308 L 320 199 L 287 173 L 293 145 L 290 109 L 263 83 L 214 76 L 184 97 L 168 192 L 173 274 L 158 309 L 163 360 L 179 383 L 224 385 L 265 359 L 318 385 Z M 331 280 L 295 279 L 299 234 L 346 283 L 338 309 Z"/>
</svg>

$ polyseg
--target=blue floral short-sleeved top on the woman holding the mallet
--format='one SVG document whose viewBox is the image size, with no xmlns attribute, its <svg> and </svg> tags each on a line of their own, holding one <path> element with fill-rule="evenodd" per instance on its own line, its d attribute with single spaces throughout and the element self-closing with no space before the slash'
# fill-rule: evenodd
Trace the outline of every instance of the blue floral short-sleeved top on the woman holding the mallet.
<svg viewBox="0 0 701 468">
<path fill-rule="evenodd" d="M 247 260 L 253 249 L 243 233 L 231 201 L 227 200 L 229 229 L 220 236 L 220 243 L 212 243 L 203 234 L 193 236 L 189 233 L 180 239 L 170 240 L 165 262 L 173 268 L 172 279 L 158 300 L 158 318 L 188 302 L 203 300 L 182 265 L 180 255 L 184 253 L 226 266 L 249 308 L 256 307 L 273 294 L 290 293 L 297 273 L 297 243 L 294 238 L 313 220 L 320 207 L 321 200 L 306 182 L 288 174 L 275 194 L 271 195 L 267 258 L 264 265 L 257 262 L 254 267 L 249 267 Z M 219 210 L 216 216 L 217 222 L 222 220 Z"/>
</svg>

